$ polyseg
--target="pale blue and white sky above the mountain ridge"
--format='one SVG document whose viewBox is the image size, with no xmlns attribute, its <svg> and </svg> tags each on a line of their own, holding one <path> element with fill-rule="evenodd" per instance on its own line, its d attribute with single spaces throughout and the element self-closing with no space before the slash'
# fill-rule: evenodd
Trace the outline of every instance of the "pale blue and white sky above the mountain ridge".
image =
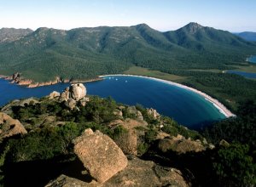
<svg viewBox="0 0 256 187">
<path fill-rule="evenodd" d="M 256 31 L 256 0 L 0 0 L 0 28 L 134 26 L 173 31 L 197 22 Z"/>
</svg>

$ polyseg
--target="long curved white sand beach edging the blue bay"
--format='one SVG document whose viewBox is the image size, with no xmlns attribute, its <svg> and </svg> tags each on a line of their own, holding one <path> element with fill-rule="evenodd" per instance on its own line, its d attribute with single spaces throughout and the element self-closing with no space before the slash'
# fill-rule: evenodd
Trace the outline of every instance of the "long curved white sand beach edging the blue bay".
<svg viewBox="0 0 256 187">
<path fill-rule="evenodd" d="M 160 78 L 154 78 L 154 77 L 144 77 L 144 76 L 125 75 L 125 74 L 104 75 L 104 76 L 99 76 L 99 77 L 111 77 L 111 76 L 143 77 L 143 78 L 148 78 L 148 79 L 152 79 L 152 80 L 159 81 L 159 82 L 165 82 L 167 84 L 170 84 L 170 85 L 173 85 L 173 86 L 176 86 L 176 87 L 179 87 L 179 88 L 184 88 L 184 89 L 190 90 L 191 92 L 194 92 L 195 94 L 200 94 L 202 97 L 204 97 L 209 102 L 211 102 L 212 105 L 214 105 L 218 109 L 219 112 L 224 114 L 224 116 L 226 116 L 226 117 L 236 116 L 230 110 L 228 110 L 222 103 L 220 103 L 217 99 L 213 99 L 211 96 L 201 92 L 200 90 L 197 90 L 195 88 L 190 88 L 188 86 L 185 86 L 185 85 L 177 83 L 177 82 L 166 81 L 166 80 L 163 80 L 163 79 L 160 79 Z"/>
</svg>

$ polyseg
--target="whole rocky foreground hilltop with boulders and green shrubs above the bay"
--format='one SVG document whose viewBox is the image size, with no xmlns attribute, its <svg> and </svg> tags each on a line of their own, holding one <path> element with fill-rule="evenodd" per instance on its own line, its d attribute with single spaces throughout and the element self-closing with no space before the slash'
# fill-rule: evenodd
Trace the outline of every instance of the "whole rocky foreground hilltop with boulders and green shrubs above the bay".
<svg viewBox="0 0 256 187">
<path fill-rule="evenodd" d="M 86 95 L 75 83 L 1 108 L 0 185 L 209 186 L 205 156 L 231 145 L 207 141 L 152 108 Z"/>
</svg>

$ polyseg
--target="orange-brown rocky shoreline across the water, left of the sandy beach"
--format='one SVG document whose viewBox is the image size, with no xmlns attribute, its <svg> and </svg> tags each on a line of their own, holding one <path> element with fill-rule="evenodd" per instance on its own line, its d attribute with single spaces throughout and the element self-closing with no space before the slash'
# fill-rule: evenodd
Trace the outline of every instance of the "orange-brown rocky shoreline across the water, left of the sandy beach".
<svg viewBox="0 0 256 187">
<path fill-rule="evenodd" d="M 20 86 L 25 86 L 26 88 L 37 88 L 44 87 L 49 85 L 54 85 L 57 83 L 78 83 L 78 82 L 96 82 L 102 81 L 101 77 L 96 77 L 92 79 L 61 79 L 60 77 L 55 77 L 54 81 L 49 82 L 34 82 L 32 79 L 27 79 L 25 77 L 21 77 L 21 73 L 16 72 L 11 76 L 0 75 L 0 78 L 10 81 L 10 83 L 16 83 Z"/>
</svg>

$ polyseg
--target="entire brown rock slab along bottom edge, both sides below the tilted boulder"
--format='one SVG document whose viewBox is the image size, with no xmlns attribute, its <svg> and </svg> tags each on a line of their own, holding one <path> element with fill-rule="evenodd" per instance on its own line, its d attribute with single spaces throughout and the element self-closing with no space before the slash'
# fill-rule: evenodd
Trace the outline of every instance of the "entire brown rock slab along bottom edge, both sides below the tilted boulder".
<svg viewBox="0 0 256 187">
<path fill-rule="evenodd" d="M 54 181 L 49 182 L 47 187 L 119 187 L 119 186 L 190 186 L 184 178 L 183 174 L 172 167 L 161 167 L 154 161 L 143 161 L 137 157 L 131 157 L 128 166 L 112 178 L 109 178 L 103 184 L 92 181 L 86 183 L 76 178 L 70 178 L 61 175 Z"/>
</svg>

